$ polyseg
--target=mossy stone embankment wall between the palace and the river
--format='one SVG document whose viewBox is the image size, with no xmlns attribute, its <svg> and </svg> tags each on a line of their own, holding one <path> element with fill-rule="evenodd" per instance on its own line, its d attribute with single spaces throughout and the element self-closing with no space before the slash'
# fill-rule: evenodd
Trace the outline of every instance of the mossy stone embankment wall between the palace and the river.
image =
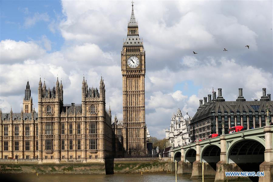
<svg viewBox="0 0 273 182">
<path fill-rule="evenodd" d="M 166 173 L 170 159 L 118 158 L 105 163 L 38 163 L 36 160 L 0 160 L 0 173 L 70 173 L 70 174 L 124 174 L 124 173 Z M 110 166 L 110 172 L 109 172 Z M 108 169 L 107 169 L 108 168 Z M 107 170 L 106 170 L 107 169 Z"/>
</svg>

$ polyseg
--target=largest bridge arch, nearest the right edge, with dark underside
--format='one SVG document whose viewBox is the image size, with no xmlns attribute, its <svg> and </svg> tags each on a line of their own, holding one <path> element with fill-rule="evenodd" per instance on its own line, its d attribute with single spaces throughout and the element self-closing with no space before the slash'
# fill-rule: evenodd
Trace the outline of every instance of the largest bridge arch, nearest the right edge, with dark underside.
<svg viewBox="0 0 273 182">
<path fill-rule="evenodd" d="M 236 163 L 243 171 L 260 171 L 260 164 L 264 162 L 264 140 L 261 138 L 238 139 L 229 145 L 227 163 Z M 258 181 L 258 177 L 249 177 Z"/>
</svg>

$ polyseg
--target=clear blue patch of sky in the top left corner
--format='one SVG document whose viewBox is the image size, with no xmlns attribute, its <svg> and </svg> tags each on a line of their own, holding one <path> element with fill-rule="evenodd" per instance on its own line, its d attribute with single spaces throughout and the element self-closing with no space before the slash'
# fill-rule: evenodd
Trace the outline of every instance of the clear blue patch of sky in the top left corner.
<svg viewBox="0 0 273 182">
<path fill-rule="evenodd" d="M 63 18 L 61 1 L 0 1 L 1 40 L 52 42 L 49 52 L 61 49 L 64 39 L 52 22 Z M 28 21 L 29 20 L 29 21 Z"/>
</svg>

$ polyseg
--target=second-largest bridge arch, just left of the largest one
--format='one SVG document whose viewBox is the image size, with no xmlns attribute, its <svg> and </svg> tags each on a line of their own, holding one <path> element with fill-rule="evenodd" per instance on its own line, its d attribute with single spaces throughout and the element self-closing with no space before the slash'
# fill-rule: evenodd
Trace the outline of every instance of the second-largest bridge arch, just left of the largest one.
<svg viewBox="0 0 273 182">
<path fill-rule="evenodd" d="M 216 171 L 216 164 L 220 161 L 220 145 L 208 144 L 202 148 L 201 161 L 208 163 Z"/>
</svg>

